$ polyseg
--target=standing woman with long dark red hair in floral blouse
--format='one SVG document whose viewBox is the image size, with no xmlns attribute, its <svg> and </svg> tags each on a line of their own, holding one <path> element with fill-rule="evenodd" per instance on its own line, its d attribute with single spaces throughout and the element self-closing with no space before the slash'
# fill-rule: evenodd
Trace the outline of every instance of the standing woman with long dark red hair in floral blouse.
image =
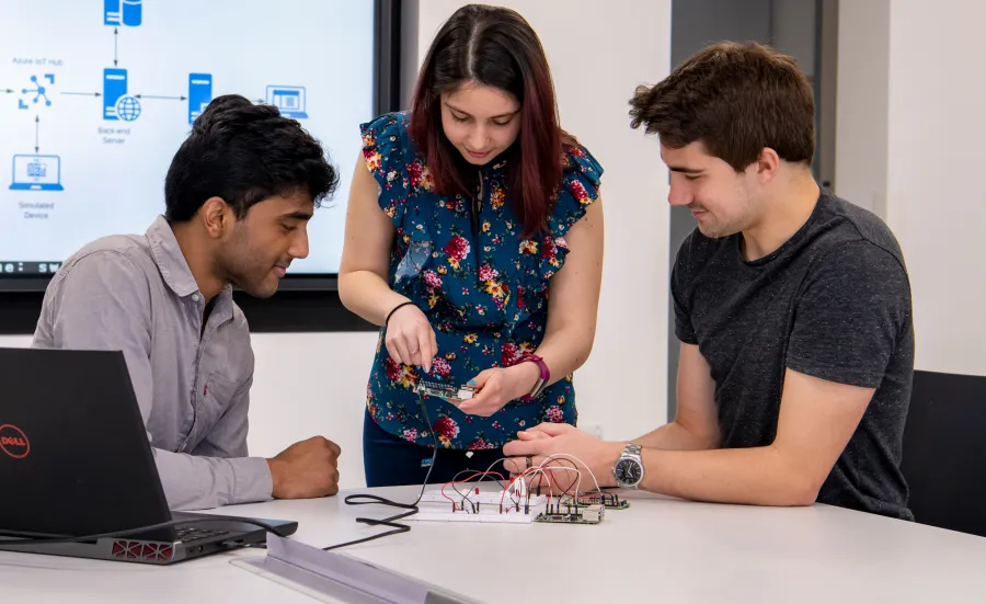
<svg viewBox="0 0 986 604">
<path fill-rule="evenodd" d="M 603 169 L 558 124 L 537 34 L 506 9 L 460 9 L 411 111 L 362 133 L 339 288 L 382 326 L 367 485 L 422 482 L 435 442 L 431 481 L 445 482 L 485 470 L 518 430 L 574 424 L 572 373 L 593 345 L 603 272 Z M 480 391 L 422 397 L 420 380 Z"/>
</svg>

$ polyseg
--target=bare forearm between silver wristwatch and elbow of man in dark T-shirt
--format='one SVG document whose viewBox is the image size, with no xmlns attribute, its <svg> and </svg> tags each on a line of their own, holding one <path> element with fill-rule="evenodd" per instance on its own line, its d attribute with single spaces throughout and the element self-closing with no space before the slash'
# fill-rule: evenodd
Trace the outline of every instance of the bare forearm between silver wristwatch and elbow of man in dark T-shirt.
<svg viewBox="0 0 986 604">
<path fill-rule="evenodd" d="M 811 505 L 821 485 L 772 447 L 643 451 L 647 491 L 715 503 Z"/>
</svg>

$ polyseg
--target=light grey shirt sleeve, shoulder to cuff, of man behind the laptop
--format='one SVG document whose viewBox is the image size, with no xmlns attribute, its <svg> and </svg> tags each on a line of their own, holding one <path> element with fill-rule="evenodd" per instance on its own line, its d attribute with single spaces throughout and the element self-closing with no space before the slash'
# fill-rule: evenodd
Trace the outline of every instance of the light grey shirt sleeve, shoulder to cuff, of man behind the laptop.
<svg viewBox="0 0 986 604">
<path fill-rule="evenodd" d="M 147 275 L 115 251 L 91 253 L 66 269 L 56 277 L 46 304 L 50 344 L 58 349 L 122 351 L 147 423 L 154 406 L 150 357 L 153 318 Z M 217 455 L 245 455 L 245 400 L 241 397 L 233 404 L 226 429 L 210 435 L 209 449 Z M 148 434 L 148 440 L 152 438 Z M 161 448 L 153 448 L 153 454 L 172 510 L 217 508 L 271 497 L 270 467 L 263 458 L 205 457 Z"/>
</svg>

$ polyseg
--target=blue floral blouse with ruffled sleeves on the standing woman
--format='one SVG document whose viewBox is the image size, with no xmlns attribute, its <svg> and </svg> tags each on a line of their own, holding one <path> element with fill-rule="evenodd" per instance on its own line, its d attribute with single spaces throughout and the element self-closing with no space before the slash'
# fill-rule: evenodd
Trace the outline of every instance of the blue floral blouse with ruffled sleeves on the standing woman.
<svg viewBox="0 0 986 604">
<path fill-rule="evenodd" d="M 438 343 L 429 375 L 390 358 L 381 329 L 367 386 L 367 407 L 386 431 L 447 448 L 497 448 L 518 430 L 540 422 L 575 423 L 572 376 L 529 402 L 508 402 L 490 418 L 467 415 L 426 397 L 432 425 L 421 412 L 419 379 L 458 388 L 490 367 L 506 367 L 532 353 L 548 323 L 548 280 L 569 252 L 565 232 L 598 196 L 603 168 L 582 147 L 565 153 L 550 233 L 520 239 L 505 187 L 504 166 L 481 170 L 480 204 L 466 195 L 437 195 L 428 168 L 408 134 L 406 112 L 363 124 L 363 153 L 380 184 L 379 203 L 395 227 L 390 286 L 424 311 Z"/>
</svg>

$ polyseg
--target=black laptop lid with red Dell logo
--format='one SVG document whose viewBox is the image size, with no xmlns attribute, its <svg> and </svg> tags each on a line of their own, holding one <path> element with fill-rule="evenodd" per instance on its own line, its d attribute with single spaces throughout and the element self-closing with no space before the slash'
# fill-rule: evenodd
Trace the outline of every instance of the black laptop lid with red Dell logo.
<svg viewBox="0 0 986 604">
<path fill-rule="evenodd" d="M 0 533 L 171 520 L 121 352 L 0 349 Z"/>
</svg>

